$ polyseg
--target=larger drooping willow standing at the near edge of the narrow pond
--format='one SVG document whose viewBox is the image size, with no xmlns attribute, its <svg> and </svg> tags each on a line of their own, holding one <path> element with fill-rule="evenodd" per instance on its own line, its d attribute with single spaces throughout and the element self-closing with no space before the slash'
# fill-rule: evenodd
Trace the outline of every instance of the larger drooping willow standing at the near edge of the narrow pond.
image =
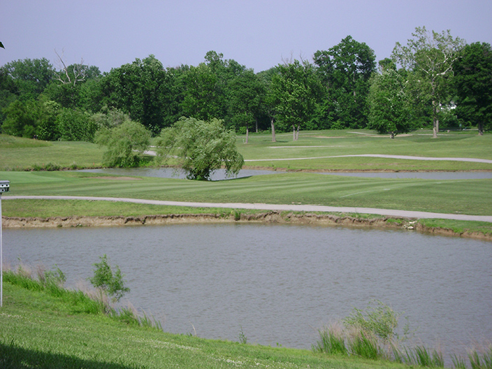
<svg viewBox="0 0 492 369">
<path fill-rule="evenodd" d="M 224 129 L 217 119 L 182 118 L 161 132 L 157 146 L 161 162 L 177 160 L 191 180 L 210 180 L 213 171 L 222 166 L 226 175 L 235 175 L 244 164 L 236 148 L 236 133 Z"/>
</svg>

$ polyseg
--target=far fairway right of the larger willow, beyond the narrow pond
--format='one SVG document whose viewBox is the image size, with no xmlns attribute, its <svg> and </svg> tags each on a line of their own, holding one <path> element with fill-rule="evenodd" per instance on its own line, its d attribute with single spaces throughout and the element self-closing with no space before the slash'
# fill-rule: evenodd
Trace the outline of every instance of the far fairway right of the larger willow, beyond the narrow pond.
<svg viewBox="0 0 492 369">
<path fill-rule="evenodd" d="M 382 154 L 410 157 L 456 157 L 492 160 L 492 136 L 476 132 L 442 133 L 433 139 L 428 131 L 412 135 L 377 135 L 368 130 L 301 132 L 277 135 L 277 142 L 264 133 L 251 135 L 249 143 L 238 139 L 247 166 L 312 171 L 491 171 L 492 164 L 461 161 L 416 161 L 347 155 Z M 283 160 L 282 160 L 283 159 Z"/>
</svg>

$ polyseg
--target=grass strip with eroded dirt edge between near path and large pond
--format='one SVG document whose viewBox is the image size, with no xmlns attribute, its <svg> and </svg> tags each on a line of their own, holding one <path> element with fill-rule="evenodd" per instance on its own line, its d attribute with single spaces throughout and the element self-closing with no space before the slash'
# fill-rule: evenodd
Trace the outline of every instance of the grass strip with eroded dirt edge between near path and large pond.
<svg viewBox="0 0 492 369">
<path fill-rule="evenodd" d="M 488 222 L 449 219 L 400 218 L 356 213 L 264 212 L 263 210 L 189 208 L 109 201 L 82 200 L 9 200 L 2 204 L 10 219 L 3 226 L 117 226 L 170 224 L 180 222 L 277 222 L 283 224 L 343 225 L 357 227 L 417 229 L 444 236 L 465 236 L 492 240 Z M 74 215 L 76 214 L 76 215 Z M 17 218 L 16 221 L 14 218 Z M 31 218 L 36 218 L 31 219 Z M 73 218 L 73 219 L 72 219 Z M 40 220 L 44 219 L 44 220 Z M 49 220 L 48 220 L 49 219 Z"/>
</svg>

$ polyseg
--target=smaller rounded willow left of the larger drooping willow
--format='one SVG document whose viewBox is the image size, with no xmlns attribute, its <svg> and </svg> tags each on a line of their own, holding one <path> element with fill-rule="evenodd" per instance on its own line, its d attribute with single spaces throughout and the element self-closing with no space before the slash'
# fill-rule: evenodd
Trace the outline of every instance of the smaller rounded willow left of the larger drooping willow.
<svg viewBox="0 0 492 369">
<path fill-rule="evenodd" d="M 96 133 L 95 142 L 108 147 L 103 154 L 106 166 L 138 166 L 150 145 L 151 133 L 143 124 L 126 119 L 113 128 L 103 127 Z"/>
</svg>

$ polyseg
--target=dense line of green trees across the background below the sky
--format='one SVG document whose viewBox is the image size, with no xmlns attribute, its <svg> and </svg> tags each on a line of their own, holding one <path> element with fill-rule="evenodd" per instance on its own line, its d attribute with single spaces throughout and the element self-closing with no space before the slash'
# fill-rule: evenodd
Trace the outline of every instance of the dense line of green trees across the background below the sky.
<svg viewBox="0 0 492 369">
<path fill-rule="evenodd" d="M 93 141 L 126 120 L 153 136 L 180 117 L 222 120 L 238 133 L 301 129 L 433 128 L 480 133 L 492 127 L 492 50 L 467 45 L 449 31 L 417 27 L 391 58 L 351 36 L 314 53 L 285 59 L 267 71 L 215 51 L 198 66 L 164 68 L 154 55 L 101 73 L 96 66 L 48 59 L 0 67 L 1 133 L 43 140 Z M 248 137 L 248 136 L 246 136 Z M 246 138 L 247 140 L 247 138 Z"/>
</svg>

